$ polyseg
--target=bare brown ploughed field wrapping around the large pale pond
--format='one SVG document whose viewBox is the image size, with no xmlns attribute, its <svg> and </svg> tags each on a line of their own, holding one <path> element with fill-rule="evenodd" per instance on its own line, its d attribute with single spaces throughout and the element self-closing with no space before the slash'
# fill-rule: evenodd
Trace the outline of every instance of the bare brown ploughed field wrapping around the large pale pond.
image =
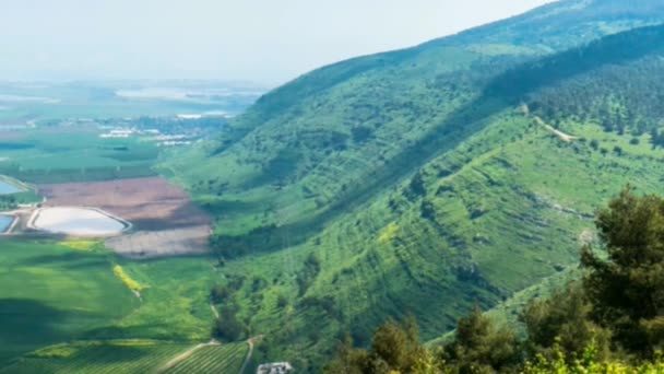
<svg viewBox="0 0 664 374">
<path fill-rule="evenodd" d="M 40 185 L 45 207 L 96 207 L 131 222 L 107 246 L 133 258 L 204 254 L 212 218 L 163 178 Z"/>
</svg>

